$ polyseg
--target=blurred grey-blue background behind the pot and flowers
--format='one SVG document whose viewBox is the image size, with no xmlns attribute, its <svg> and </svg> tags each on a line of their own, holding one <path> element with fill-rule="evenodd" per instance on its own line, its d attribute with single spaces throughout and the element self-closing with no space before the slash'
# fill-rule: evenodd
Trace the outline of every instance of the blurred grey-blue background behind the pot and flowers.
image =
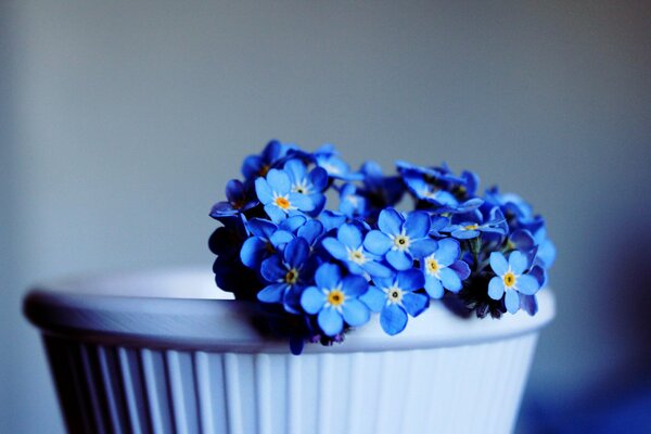
<svg viewBox="0 0 651 434">
<path fill-rule="evenodd" d="M 529 200 L 558 317 L 518 432 L 651 431 L 651 2 L 0 0 L 0 432 L 63 432 L 27 288 L 209 269 L 271 138 Z"/>
</svg>

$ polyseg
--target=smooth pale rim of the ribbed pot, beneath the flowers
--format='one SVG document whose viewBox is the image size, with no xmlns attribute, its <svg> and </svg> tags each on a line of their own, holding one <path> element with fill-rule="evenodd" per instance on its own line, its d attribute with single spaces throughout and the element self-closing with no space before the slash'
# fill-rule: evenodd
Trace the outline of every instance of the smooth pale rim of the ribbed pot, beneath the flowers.
<svg viewBox="0 0 651 434">
<path fill-rule="evenodd" d="M 137 295 L 136 295 L 137 294 Z M 538 312 L 501 319 L 461 318 L 432 302 L 407 328 L 386 335 L 374 314 L 347 333 L 344 343 L 306 344 L 304 353 L 425 349 L 487 343 L 537 333 L 556 315 L 549 289 L 538 294 Z M 231 299 L 228 299 L 231 298 Z M 42 333 L 85 343 L 225 353 L 289 353 L 286 340 L 253 324 L 254 304 L 235 302 L 216 289 L 213 275 L 197 269 L 111 273 L 35 285 L 24 299 L 25 316 Z"/>
</svg>

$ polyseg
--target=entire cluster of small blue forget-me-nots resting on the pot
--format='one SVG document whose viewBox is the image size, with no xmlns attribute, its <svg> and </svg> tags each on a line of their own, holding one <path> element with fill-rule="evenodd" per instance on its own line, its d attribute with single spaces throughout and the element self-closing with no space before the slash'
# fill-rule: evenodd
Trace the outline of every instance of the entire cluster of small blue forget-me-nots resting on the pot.
<svg viewBox="0 0 651 434">
<path fill-rule="evenodd" d="M 398 334 L 432 301 L 482 318 L 535 315 L 556 256 L 542 218 L 515 194 L 478 195 L 471 171 L 396 166 L 353 170 L 332 145 L 269 142 L 210 210 L 217 285 L 256 303 L 264 329 L 296 352 L 340 342 L 372 314 Z M 409 196 L 412 209 L 399 210 Z"/>
</svg>

